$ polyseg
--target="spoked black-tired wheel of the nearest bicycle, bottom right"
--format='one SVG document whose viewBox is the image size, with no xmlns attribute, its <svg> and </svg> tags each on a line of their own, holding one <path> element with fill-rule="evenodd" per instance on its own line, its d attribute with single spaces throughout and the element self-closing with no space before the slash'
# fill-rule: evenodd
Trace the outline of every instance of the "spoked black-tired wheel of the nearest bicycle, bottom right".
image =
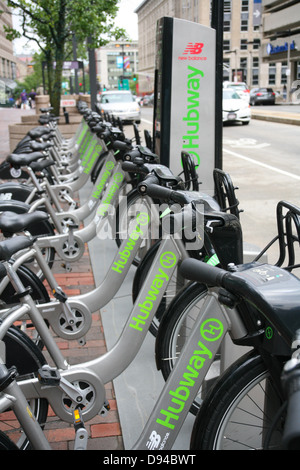
<svg viewBox="0 0 300 470">
<path fill-rule="evenodd" d="M 271 392 L 270 407 L 267 400 Z M 283 423 L 279 420 L 273 429 L 273 419 L 281 404 L 268 368 L 261 356 L 251 351 L 229 367 L 206 396 L 194 422 L 190 449 L 263 449 L 271 430 L 268 449 L 277 450 Z"/>
</svg>

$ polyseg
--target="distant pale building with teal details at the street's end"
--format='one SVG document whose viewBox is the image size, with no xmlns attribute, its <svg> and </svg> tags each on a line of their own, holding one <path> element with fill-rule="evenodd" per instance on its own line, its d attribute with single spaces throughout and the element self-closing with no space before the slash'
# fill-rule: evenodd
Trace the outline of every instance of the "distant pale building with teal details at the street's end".
<svg viewBox="0 0 300 470">
<path fill-rule="evenodd" d="M 97 49 L 99 91 L 133 89 L 137 83 L 138 62 L 138 44 L 135 41 L 110 42 Z"/>
</svg>

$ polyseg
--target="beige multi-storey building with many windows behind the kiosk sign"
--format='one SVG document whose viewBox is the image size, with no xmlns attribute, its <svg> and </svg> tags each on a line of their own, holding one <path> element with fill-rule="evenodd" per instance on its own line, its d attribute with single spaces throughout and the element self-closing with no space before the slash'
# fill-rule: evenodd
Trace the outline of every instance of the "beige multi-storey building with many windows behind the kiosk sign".
<svg viewBox="0 0 300 470">
<path fill-rule="evenodd" d="M 280 0 L 262 0 L 262 2 L 299 3 L 288 0 L 281 2 Z M 266 10 L 266 6 L 264 8 Z M 211 0 L 144 0 L 141 2 L 135 11 L 138 15 L 139 28 L 141 92 L 150 93 L 154 88 L 157 20 L 163 16 L 169 16 L 210 26 L 211 9 Z M 278 56 L 277 78 L 274 82 L 272 65 L 269 65 L 263 53 L 263 28 L 270 21 L 267 20 L 267 16 L 269 12 L 263 13 L 263 5 L 259 1 L 224 0 L 223 79 L 245 81 L 249 88 L 272 86 L 282 93 L 287 81 L 285 60 L 280 61 Z M 299 24 L 299 13 L 296 18 Z"/>
</svg>

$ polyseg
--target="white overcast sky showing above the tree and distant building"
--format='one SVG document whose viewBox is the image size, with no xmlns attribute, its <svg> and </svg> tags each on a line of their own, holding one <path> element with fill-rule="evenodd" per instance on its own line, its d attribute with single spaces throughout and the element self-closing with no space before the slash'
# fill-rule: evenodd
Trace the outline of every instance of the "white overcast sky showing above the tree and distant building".
<svg viewBox="0 0 300 470">
<path fill-rule="evenodd" d="M 116 26 L 124 28 L 130 39 L 138 39 L 137 14 L 134 10 L 141 5 L 143 0 L 120 0 L 118 3 L 119 12 L 115 19 Z M 14 23 L 15 27 L 17 23 Z M 30 54 L 35 51 L 34 42 L 26 46 L 24 38 L 14 41 L 14 50 L 16 54 Z"/>
</svg>

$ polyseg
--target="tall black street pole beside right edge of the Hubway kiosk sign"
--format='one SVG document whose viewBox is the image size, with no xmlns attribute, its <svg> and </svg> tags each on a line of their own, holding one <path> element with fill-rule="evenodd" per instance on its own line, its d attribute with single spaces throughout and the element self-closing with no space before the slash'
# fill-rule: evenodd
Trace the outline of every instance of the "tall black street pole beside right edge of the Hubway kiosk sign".
<svg viewBox="0 0 300 470">
<path fill-rule="evenodd" d="M 215 167 L 222 168 L 223 157 L 223 15 L 224 0 L 212 1 L 211 27 L 216 30 L 216 102 L 215 102 Z"/>
</svg>

